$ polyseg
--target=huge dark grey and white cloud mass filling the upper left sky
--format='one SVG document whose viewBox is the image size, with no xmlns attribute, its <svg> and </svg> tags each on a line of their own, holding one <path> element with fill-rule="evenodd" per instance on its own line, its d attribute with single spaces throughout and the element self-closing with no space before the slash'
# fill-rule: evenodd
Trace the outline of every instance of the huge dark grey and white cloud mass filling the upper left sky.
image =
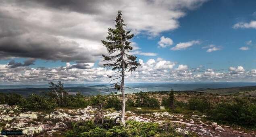
<svg viewBox="0 0 256 137">
<path fill-rule="evenodd" d="M 177 29 L 185 11 L 205 1 L 1 0 L 0 58 L 95 62 L 106 54 L 100 40 L 114 27 L 119 7 L 123 7 L 127 29 L 154 37 Z"/>
</svg>

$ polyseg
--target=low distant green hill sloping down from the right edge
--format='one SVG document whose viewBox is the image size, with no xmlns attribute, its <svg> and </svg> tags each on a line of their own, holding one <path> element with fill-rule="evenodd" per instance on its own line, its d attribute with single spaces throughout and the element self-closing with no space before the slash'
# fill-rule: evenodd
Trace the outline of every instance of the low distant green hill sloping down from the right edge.
<svg viewBox="0 0 256 137">
<path fill-rule="evenodd" d="M 197 92 L 204 93 L 217 93 L 220 95 L 235 94 L 238 96 L 252 96 L 256 97 L 256 86 L 247 87 L 231 87 L 231 88 L 219 88 L 219 89 L 197 89 Z"/>
</svg>

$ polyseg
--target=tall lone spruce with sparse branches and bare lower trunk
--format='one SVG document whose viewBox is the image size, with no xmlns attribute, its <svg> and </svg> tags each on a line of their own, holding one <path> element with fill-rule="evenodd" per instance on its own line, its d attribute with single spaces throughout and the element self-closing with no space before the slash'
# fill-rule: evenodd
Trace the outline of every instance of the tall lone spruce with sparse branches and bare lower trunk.
<svg viewBox="0 0 256 137">
<path fill-rule="evenodd" d="M 111 68 L 112 71 L 115 71 L 114 75 L 109 75 L 108 77 L 113 77 L 111 81 L 118 81 L 113 84 L 113 87 L 114 89 L 121 90 L 122 93 L 123 105 L 121 122 L 123 125 L 125 125 L 125 72 L 135 71 L 140 64 L 136 61 L 136 56 L 127 54 L 133 49 L 130 46 L 131 42 L 129 41 L 133 38 L 133 34 L 130 34 L 131 31 L 125 31 L 123 28 L 126 26 L 126 24 L 124 24 L 122 12 L 120 10 L 117 12 L 115 23 L 116 25 L 114 29 L 108 29 L 108 36 L 106 37 L 108 41 L 102 40 L 102 44 L 106 47 L 110 55 L 102 56 L 104 57 L 104 61 L 107 62 L 104 64 L 104 66 Z"/>
</svg>

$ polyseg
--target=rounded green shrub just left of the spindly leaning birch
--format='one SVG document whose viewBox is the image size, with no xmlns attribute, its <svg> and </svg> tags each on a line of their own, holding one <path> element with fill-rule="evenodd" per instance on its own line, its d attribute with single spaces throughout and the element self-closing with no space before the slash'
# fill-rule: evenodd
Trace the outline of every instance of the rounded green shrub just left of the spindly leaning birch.
<svg viewBox="0 0 256 137">
<path fill-rule="evenodd" d="M 30 94 L 28 98 L 21 100 L 21 103 L 18 105 L 23 111 L 51 111 L 57 106 L 54 100 L 34 93 Z"/>
</svg>

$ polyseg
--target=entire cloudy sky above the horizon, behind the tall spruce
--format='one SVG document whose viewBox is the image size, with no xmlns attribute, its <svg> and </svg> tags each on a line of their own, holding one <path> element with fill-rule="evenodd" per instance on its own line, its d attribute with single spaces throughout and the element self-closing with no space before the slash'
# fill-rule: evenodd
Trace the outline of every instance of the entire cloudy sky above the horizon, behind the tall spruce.
<svg viewBox="0 0 256 137">
<path fill-rule="evenodd" d="M 122 10 L 141 66 L 127 82 L 256 82 L 255 0 L 1 0 L 0 83 L 106 83 Z"/>
</svg>

